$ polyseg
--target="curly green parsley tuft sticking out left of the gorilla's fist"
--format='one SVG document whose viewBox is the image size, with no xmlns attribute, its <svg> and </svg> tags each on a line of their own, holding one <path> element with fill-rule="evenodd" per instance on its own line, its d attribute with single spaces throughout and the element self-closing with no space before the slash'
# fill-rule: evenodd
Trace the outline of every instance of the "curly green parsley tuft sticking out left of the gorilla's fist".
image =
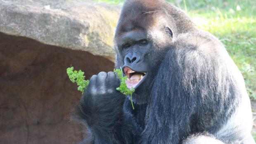
<svg viewBox="0 0 256 144">
<path fill-rule="evenodd" d="M 77 90 L 81 91 L 83 94 L 83 91 L 89 84 L 89 80 L 85 80 L 84 72 L 81 70 L 74 71 L 74 67 L 71 66 L 70 68 L 66 69 L 66 73 L 68 74 L 71 82 L 76 83 L 78 85 Z"/>
</svg>

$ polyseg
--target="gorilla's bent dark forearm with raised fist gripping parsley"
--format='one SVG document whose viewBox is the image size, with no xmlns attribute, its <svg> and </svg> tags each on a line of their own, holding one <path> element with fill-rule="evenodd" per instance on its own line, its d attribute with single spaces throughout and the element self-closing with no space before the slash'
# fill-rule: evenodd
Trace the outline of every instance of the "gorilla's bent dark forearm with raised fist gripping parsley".
<svg viewBox="0 0 256 144">
<path fill-rule="evenodd" d="M 113 72 L 101 72 L 90 78 L 88 89 L 76 109 L 78 119 L 90 132 L 83 143 L 130 144 L 138 131 L 131 116 L 123 111 L 126 97 L 116 91 L 120 84 Z"/>
</svg>

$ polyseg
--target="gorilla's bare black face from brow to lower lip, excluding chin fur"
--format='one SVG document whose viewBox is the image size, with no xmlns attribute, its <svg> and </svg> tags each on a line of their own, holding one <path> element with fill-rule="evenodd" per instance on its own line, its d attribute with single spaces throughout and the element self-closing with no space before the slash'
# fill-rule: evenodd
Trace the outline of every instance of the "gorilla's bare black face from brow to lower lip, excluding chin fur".
<svg viewBox="0 0 256 144">
<path fill-rule="evenodd" d="M 123 55 L 123 73 L 127 76 L 128 88 L 137 89 L 149 72 L 149 54 L 152 45 L 148 42 L 145 32 L 130 31 L 121 36 L 118 43 Z"/>
</svg>

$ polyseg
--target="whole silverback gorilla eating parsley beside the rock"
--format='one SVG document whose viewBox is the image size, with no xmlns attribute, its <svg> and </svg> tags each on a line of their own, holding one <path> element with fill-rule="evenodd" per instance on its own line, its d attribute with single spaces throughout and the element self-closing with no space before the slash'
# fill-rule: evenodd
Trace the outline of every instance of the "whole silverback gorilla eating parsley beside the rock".
<svg viewBox="0 0 256 144">
<path fill-rule="evenodd" d="M 223 44 L 164 0 L 127 0 L 116 68 L 90 78 L 76 113 L 93 144 L 255 144 L 243 77 Z"/>
</svg>

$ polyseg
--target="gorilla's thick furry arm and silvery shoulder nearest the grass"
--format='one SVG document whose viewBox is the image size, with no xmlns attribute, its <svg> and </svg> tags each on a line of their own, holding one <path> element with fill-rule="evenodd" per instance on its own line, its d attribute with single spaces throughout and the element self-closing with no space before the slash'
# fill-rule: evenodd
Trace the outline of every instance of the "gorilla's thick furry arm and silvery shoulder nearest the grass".
<svg viewBox="0 0 256 144">
<path fill-rule="evenodd" d="M 143 144 L 179 144 L 191 134 L 214 134 L 234 113 L 241 98 L 228 71 L 234 64 L 210 36 L 181 35 L 170 47 L 152 86 Z"/>
</svg>

